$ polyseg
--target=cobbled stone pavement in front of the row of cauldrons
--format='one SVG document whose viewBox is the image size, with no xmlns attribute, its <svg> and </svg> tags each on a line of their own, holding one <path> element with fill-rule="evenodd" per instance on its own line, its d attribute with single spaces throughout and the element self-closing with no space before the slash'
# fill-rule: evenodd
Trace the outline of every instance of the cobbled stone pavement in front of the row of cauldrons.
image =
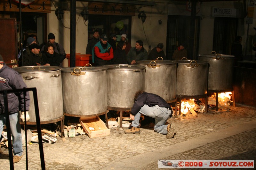
<svg viewBox="0 0 256 170">
<path fill-rule="evenodd" d="M 116 128 L 106 137 L 59 137 L 55 144 L 43 144 L 46 169 L 158 169 L 159 159 L 255 159 L 255 107 L 236 104 L 168 122 L 176 126 L 172 139 L 150 126 L 132 135 Z M 0 169 L 9 169 L 8 150 L 1 149 Z M 14 169 L 26 169 L 25 152 Z M 38 144 L 28 145 L 28 169 L 41 169 Z"/>
</svg>

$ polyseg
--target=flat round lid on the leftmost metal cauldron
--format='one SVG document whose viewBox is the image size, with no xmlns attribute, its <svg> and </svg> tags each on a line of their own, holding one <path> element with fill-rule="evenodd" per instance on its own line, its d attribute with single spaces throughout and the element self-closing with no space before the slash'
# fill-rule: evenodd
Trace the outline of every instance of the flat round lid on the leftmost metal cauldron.
<svg viewBox="0 0 256 170">
<path fill-rule="evenodd" d="M 48 71 L 57 71 L 61 70 L 61 67 L 58 66 L 22 66 L 13 68 L 18 72 L 48 72 Z"/>
</svg>

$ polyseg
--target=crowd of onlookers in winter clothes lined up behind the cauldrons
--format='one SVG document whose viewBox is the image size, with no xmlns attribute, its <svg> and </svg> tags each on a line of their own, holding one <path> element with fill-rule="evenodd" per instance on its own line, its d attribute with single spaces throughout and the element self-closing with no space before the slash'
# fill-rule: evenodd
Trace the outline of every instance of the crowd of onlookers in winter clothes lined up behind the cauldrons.
<svg viewBox="0 0 256 170">
<path fill-rule="evenodd" d="M 136 64 L 139 60 L 155 60 L 161 57 L 167 60 L 164 53 L 164 44 L 158 43 L 156 47 L 148 51 L 143 47 L 143 41 L 136 41 L 135 47 L 132 47 L 127 39 L 126 34 L 121 35 L 120 41 L 117 42 L 116 34 L 108 35 L 95 29 L 93 38 L 88 41 L 85 54 L 92 55 L 94 65 L 106 64 Z M 174 51 L 173 60 L 181 60 L 187 57 L 186 44 L 181 43 Z M 22 56 L 22 57 L 21 57 Z M 22 66 L 60 66 L 66 58 L 66 53 L 62 45 L 55 42 L 53 33 L 48 34 L 48 41 L 40 48 L 36 35 L 32 34 L 27 39 L 26 46 L 20 50 L 18 55 Z"/>
</svg>

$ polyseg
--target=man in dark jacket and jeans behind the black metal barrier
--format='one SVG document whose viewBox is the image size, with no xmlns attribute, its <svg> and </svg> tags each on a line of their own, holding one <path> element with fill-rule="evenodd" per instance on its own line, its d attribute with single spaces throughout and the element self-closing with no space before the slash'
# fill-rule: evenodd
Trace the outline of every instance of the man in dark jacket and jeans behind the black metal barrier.
<svg viewBox="0 0 256 170">
<path fill-rule="evenodd" d="M 20 74 L 8 67 L 3 60 L 2 55 L 0 55 L 0 91 L 11 90 L 11 89 L 22 89 L 27 88 Z M 8 109 L 10 118 L 10 128 L 12 134 L 12 146 L 13 147 L 13 163 L 19 162 L 22 157 L 22 137 L 20 129 L 20 117 L 18 117 L 18 112 L 29 109 L 29 92 L 25 95 L 26 100 L 26 110 L 24 110 L 24 97 L 23 92 L 8 93 Z M 0 134 L 4 129 L 4 124 L 6 124 L 5 109 L 4 109 L 4 97 L 0 94 Z M 27 115 L 27 114 L 26 114 Z M 27 117 L 28 118 L 28 117 Z M 9 146 L 10 147 L 10 146 Z"/>
</svg>

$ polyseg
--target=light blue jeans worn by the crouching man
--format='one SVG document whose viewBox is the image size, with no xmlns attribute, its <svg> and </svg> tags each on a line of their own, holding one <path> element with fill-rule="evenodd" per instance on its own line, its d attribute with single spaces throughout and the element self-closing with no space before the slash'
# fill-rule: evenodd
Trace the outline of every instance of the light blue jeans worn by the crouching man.
<svg viewBox="0 0 256 170">
<path fill-rule="evenodd" d="M 165 107 L 159 107 L 158 105 L 149 107 L 148 105 L 144 105 L 141 107 L 139 113 L 134 116 L 134 120 L 132 121 L 132 127 L 139 127 L 140 123 L 140 114 L 146 115 L 152 118 L 155 118 L 155 127 L 154 130 L 158 133 L 167 134 L 167 126 L 165 125 L 166 121 L 172 114 L 172 109 L 167 109 Z"/>
</svg>

